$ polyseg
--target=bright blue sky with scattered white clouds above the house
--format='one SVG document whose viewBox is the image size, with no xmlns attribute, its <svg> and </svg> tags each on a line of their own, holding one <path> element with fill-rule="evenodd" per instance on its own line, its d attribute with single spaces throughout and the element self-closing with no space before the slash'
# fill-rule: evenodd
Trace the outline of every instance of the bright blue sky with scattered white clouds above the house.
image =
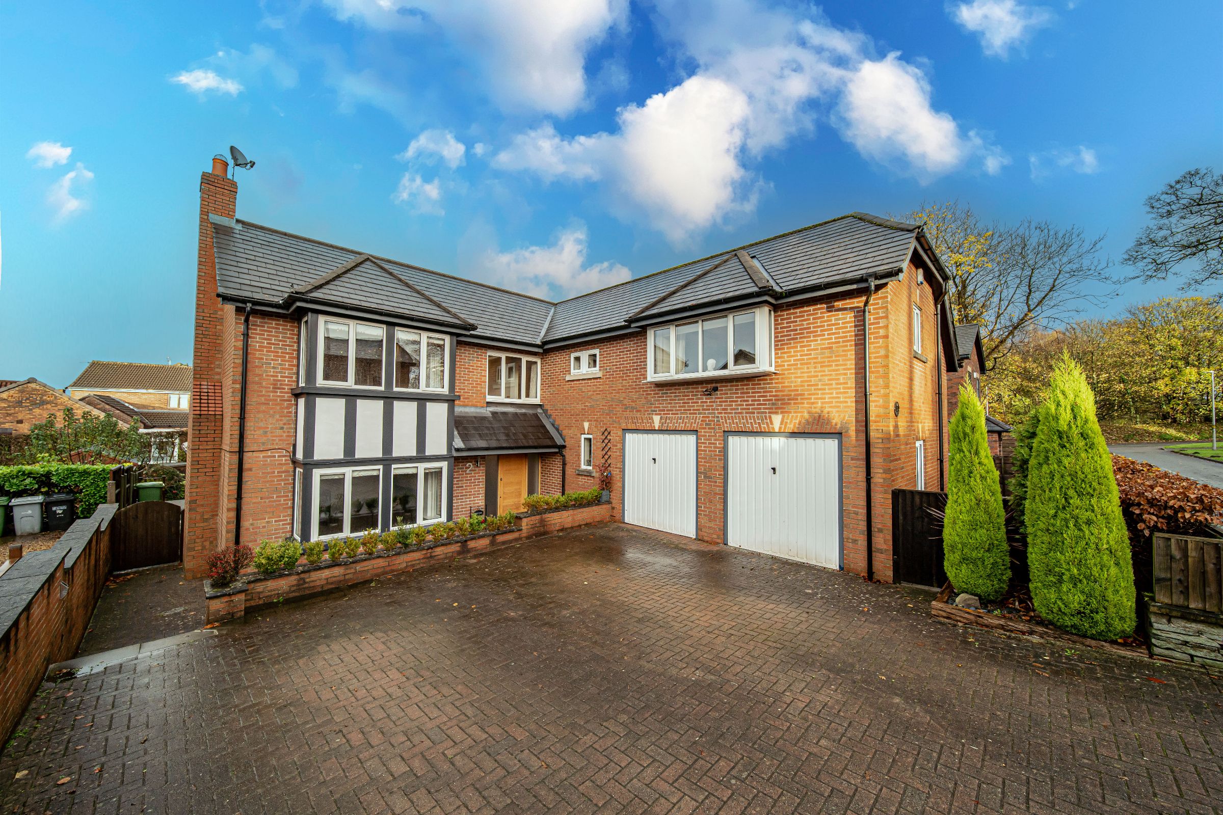
<svg viewBox="0 0 1223 815">
<path fill-rule="evenodd" d="M 953 198 L 1119 258 L 1221 165 L 1219 31 L 1190 0 L 0 4 L 0 379 L 190 362 L 229 144 L 240 217 L 550 297 Z"/>
</svg>

